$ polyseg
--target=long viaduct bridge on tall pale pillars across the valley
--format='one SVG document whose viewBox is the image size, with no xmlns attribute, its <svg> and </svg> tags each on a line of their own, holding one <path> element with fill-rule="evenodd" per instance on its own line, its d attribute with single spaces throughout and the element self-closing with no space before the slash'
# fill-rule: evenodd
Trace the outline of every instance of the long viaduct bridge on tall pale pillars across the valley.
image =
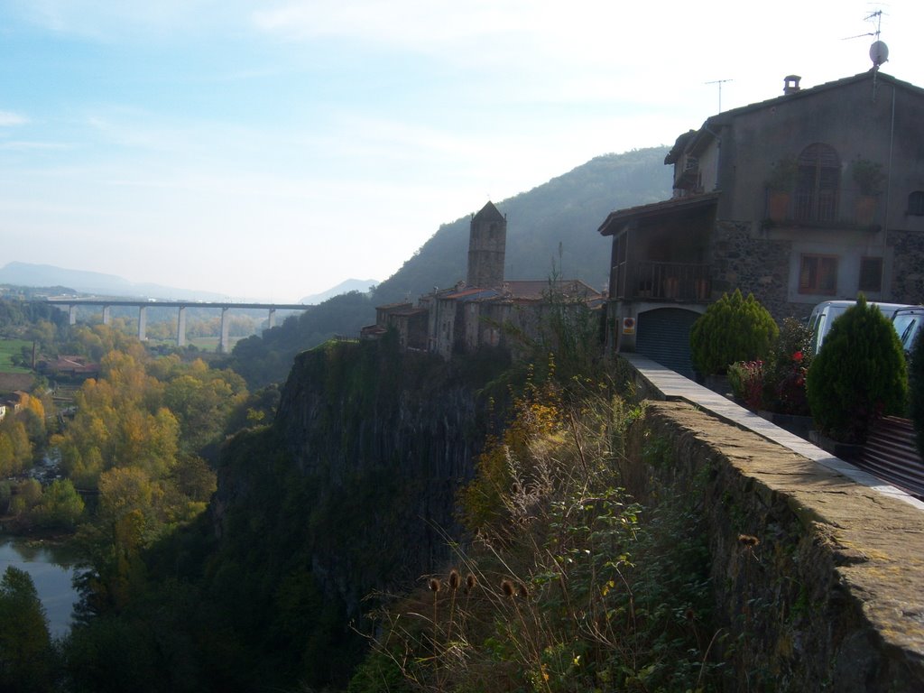
<svg viewBox="0 0 924 693">
<path fill-rule="evenodd" d="M 143 342 L 147 340 L 147 310 L 149 308 L 176 308 L 176 346 L 186 346 L 186 309 L 212 308 L 222 311 L 221 338 L 218 350 L 226 354 L 230 351 L 228 328 L 230 322 L 226 320 L 227 311 L 232 308 L 257 309 L 268 311 L 269 326 L 274 326 L 276 310 L 306 310 L 310 306 L 303 303 L 230 303 L 221 301 L 181 301 L 181 300 L 123 300 L 113 298 L 47 298 L 47 303 L 67 310 L 70 324 L 77 322 L 77 310 L 80 307 L 91 306 L 103 309 L 103 324 L 111 321 L 114 307 L 129 307 L 138 309 L 138 338 Z"/>
</svg>

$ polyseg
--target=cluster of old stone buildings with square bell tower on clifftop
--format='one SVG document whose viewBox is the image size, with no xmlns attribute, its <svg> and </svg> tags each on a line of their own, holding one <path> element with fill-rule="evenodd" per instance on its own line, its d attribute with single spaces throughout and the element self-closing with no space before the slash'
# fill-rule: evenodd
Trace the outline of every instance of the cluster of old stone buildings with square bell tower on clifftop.
<svg viewBox="0 0 924 693">
<path fill-rule="evenodd" d="M 584 282 L 572 280 L 507 280 L 505 216 L 488 202 L 471 219 L 468 237 L 468 280 L 434 290 L 419 298 L 376 308 L 374 325 L 361 337 L 374 339 L 395 329 L 399 344 L 450 359 L 479 346 L 515 348 L 511 335 L 539 334 L 550 297 L 565 305 L 602 307 L 602 295 Z"/>
</svg>

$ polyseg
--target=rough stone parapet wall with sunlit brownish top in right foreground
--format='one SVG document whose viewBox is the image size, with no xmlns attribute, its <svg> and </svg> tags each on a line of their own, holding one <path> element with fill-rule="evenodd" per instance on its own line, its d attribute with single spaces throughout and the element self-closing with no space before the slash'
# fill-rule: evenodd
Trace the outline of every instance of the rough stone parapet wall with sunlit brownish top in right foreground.
<svg viewBox="0 0 924 693">
<path fill-rule="evenodd" d="M 730 690 L 924 690 L 924 512 L 683 403 L 626 459 L 640 498 L 701 496 Z"/>
</svg>

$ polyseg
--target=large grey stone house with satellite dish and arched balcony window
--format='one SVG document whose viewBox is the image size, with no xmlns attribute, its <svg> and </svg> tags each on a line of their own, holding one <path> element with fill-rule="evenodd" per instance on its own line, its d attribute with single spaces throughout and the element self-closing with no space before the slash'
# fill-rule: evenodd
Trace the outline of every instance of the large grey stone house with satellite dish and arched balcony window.
<svg viewBox="0 0 924 693">
<path fill-rule="evenodd" d="M 692 372 L 689 328 L 726 291 L 778 321 L 831 298 L 924 300 L 924 90 L 873 67 L 681 135 L 670 200 L 609 214 L 607 341 Z"/>
</svg>

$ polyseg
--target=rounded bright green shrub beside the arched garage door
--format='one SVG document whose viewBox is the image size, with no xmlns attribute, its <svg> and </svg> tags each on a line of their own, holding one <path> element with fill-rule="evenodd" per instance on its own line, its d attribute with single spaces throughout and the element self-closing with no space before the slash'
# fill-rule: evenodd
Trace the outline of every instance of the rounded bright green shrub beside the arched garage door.
<svg viewBox="0 0 924 693">
<path fill-rule="evenodd" d="M 693 365 L 704 375 L 723 375 L 736 361 L 764 360 L 779 329 L 753 294 L 723 294 L 693 323 Z"/>
</svg>

